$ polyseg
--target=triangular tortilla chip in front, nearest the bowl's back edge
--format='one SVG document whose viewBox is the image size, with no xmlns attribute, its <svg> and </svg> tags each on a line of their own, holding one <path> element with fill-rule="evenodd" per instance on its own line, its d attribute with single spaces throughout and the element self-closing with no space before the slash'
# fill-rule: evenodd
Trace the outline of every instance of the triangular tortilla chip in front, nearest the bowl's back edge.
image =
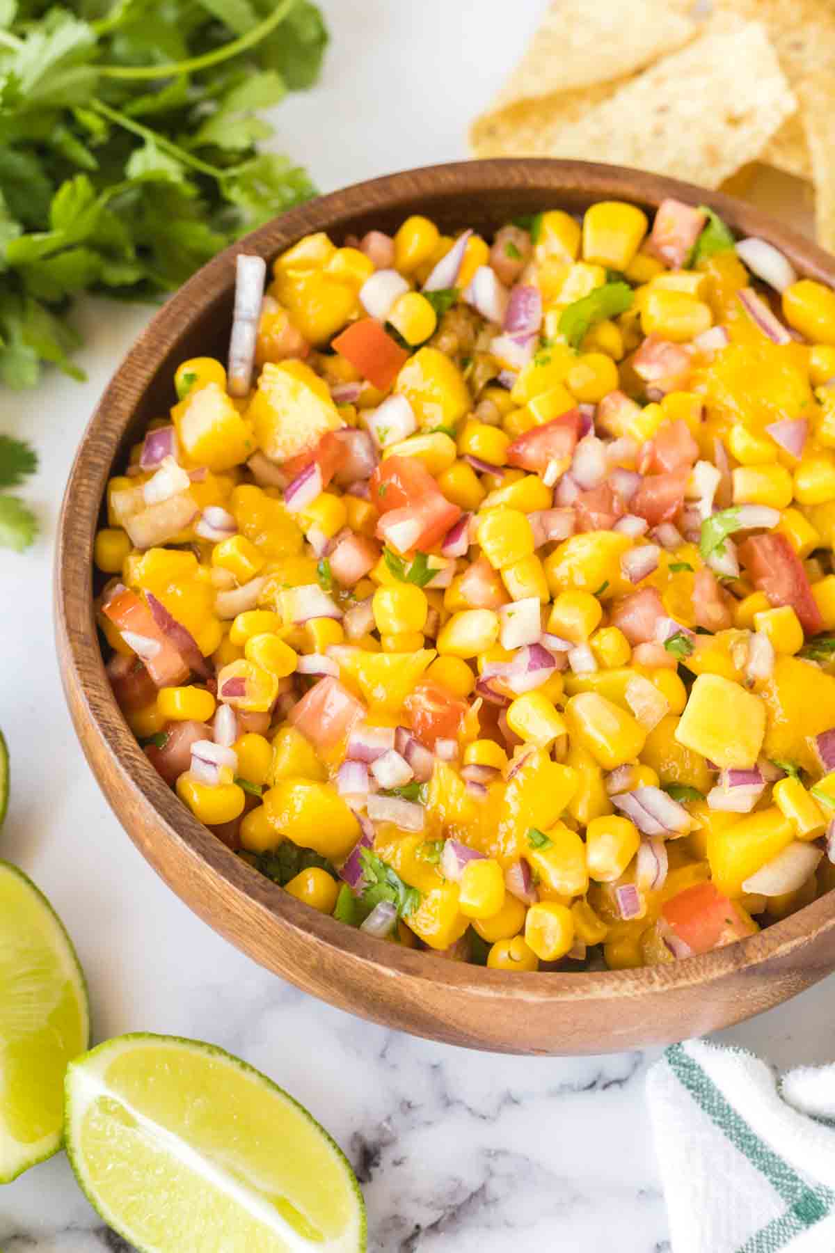
<svg viewBox="0 0 835 1253">
<path fill-rule="evenodd" d="M 765 30 L 702 35 L 548 133 L 547 154 L 717 187 L 756 160 L 796 109 Z"/>
</svg>

